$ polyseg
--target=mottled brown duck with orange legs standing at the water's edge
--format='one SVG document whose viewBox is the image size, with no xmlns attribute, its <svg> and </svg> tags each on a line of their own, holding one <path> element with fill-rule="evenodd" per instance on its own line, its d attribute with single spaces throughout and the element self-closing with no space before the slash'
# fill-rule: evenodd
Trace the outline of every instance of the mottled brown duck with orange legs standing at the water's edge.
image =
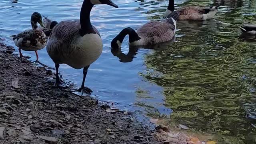
<svg viewBox="0 0 256 144">
<path fill-rule="evenodd" d="M 12 36 L 12 39 L 14 41 L 14 44 L 19 48 L 18 50 L 20 53 L 20 58 L 26 57 L 22 55 L 21 50 L 35 51 L 36 61 L 38 61 L 37 51 L 43 49 L 47 44 L 46 35 L 40 28 L 38 28 L 37 25 L 37 23 L 39 23 L 42 27 L 44 27 L 41 14 L 39 12 L 34 12 L 31 15 L 30 22 L 32 29 L 25 30 L 17 35 Z"/>
</svg>

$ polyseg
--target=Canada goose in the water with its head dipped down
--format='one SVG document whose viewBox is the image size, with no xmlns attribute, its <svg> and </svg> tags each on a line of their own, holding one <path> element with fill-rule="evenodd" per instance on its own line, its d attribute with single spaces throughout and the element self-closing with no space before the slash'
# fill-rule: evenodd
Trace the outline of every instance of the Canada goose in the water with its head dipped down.
<svg viewBox="0 0 256 144">
<path fill-rule="evenodd" d="M 159 21 L 147 22 L 141 26 L 137 32 L 134 29 L 128 27 L 124 28 L 111 42 L 112 48 L 120 48 L 124 37 L 129 35 L 130 46 L 142 46 L 157 44 L 160 42 L 167 42 L 172 40 L 176 30 L 176 20 L 178 18 L 178 12 L 172 12 L 171 18 Z"/>
</svg>

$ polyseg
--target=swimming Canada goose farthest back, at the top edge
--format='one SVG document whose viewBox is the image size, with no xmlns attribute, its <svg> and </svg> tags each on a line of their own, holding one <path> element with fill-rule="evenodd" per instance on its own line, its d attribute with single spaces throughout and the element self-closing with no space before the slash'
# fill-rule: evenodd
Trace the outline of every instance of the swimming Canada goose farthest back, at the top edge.
<svg viewBox="0 0 256 144">
<path fill-rule="evenodd" d="M 176 10 L 180 14 L 178 20 L 208 20 L 215 16 L 218 11 L 218 7 L 223 5 L 222 1 L 217 6 L 199 7 L 199 6 L 183 6 Z M 174 11 L 174 0 L 169 0 L 168 8 L 165 11 L 164 16 L 170 18 L 170 13 Z"/>
</svg>

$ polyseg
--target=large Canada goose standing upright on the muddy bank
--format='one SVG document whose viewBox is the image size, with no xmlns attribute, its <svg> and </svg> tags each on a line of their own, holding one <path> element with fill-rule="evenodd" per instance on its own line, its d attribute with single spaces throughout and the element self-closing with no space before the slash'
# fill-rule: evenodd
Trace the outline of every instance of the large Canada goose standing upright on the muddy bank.
<svg viewBox="0 0 256 144">
<path fill-rule="evenodd" d="M 78 90 L 90 94 L 92 90 L 84 86 L 84 81 L 90 64 L 98 59 L 102 53 L 102 39 L 98 30 L 90 22 L 90 11 L 95 4 L 108 4 L 118 8 L 111 0 L 84 0 L 80 11 L 80 20 L 65 20 L 59 22 L 50 34 L 47 52 L 55 63 L 55 85 L 65 85 L 60 80 L 58 68 L 60 64 L 67 64 L 75 69 L 83 70 L 82 85 Z"/>
</svg>

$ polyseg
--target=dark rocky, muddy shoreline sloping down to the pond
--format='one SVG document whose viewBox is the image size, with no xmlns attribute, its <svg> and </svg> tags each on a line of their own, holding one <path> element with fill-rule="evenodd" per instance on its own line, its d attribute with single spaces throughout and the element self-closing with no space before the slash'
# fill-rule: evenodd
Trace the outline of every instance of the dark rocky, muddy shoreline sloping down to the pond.
<svg viewBox="0 0 256 144">
<path fill-rule="evenodd" d="M 0 143 L 162 144 L 129 115 L 54 87 L 49 70 L 0 43 Z"/>
</svg>

